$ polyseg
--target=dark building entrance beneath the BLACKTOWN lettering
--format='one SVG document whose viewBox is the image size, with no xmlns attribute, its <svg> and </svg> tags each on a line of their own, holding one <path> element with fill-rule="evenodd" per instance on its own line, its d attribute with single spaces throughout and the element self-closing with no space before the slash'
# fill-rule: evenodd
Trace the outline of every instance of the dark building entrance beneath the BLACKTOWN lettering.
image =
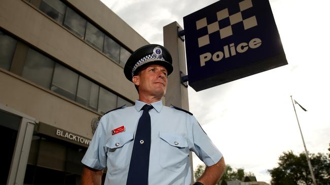
<svg viewBox="0 0 330 185">
<path fill-rule="evenodd" d="M 80 185 L 87 148 L 40 133 L 32 137 L 24 184 Z"/>
</svg>

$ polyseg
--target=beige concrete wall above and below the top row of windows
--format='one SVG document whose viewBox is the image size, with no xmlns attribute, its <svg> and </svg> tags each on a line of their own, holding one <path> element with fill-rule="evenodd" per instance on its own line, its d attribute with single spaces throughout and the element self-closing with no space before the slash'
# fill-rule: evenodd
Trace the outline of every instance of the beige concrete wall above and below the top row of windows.
<svg viewBox="0 0 330 185">
<path fill-rule="evenodd" d="M 70 0 L 69 2 L 132 51 L 148 44 L 100 1 Z M 25 42 L 127 99 L 134 101 L 138 98 L 134 85 L 124 77 L 122 67 L 25 1 L 1 0 L 0 25 Z"/>
</svg>

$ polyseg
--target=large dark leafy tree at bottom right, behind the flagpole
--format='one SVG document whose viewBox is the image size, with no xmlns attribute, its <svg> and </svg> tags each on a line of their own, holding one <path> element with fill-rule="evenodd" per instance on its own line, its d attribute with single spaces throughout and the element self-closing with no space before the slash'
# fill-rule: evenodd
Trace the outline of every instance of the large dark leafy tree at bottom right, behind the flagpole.
<svg viewBox="0 0 330 185">
<path fill-rule="evenodd" d="M 319 185 L 330 184 L 329 159 L 321 153 L 316 155 L 310 154 L 314 175 Z M 313 183 L 305 153 L 295 155 L 292 151 L 283 152 L 279 157 L 278 167 L 269 169 L 268 171 L 272 176 L 271 183 L 273 185 L 309 185 Z"/>
</svg>

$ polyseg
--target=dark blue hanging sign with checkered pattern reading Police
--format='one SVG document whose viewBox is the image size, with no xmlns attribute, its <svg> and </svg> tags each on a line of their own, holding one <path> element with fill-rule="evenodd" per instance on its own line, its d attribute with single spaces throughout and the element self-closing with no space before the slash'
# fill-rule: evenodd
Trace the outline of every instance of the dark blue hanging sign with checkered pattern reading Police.
<svg viewBox="0 0 330 185">
<path fill-rule="evenodd" d="M 221 0 L 183 22 L 196 91 L 287 64 L 268 0 Z"/>
</svg>

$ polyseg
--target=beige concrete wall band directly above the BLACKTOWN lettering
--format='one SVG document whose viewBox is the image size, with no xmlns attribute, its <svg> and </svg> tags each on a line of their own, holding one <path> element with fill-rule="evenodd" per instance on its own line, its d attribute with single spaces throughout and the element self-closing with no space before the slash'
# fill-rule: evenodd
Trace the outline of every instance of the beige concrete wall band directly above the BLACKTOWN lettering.
<svg viewBox="0 0 330 185">
<path fill-rule="evenodd" d="M 91 138 L 91 120 L 99 115 L 54 92 L 0 68 L 0 102 L 44 122 Z"/>
</svg>

